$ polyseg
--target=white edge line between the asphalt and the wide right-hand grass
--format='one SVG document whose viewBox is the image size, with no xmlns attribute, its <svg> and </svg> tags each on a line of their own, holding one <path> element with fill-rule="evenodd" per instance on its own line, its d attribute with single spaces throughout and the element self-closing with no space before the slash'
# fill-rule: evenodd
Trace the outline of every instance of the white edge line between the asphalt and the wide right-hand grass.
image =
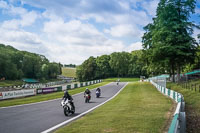
<svg viewBox="0 0 200 133">
<path fill-rule="evenodd" d="M 79 117 L 81 117 L 81 116 L 87 114 L 87 113 L 89 113 L 89 112 L 91 112 L 92 110 L 98 108 L 99 106 L 105 104 L 106 102 L 108 102 L 108 101 L 110 101 L 111 99 L 115 98 L 115 97 L 126 87 L 126 85 L 127 85 L 128 83 L 129 83 L 129 82 L 127 82 L 114 96 L 112 96 L 112 97 L 109 98 L 108 100 L 104 101 L 103 103 L 101 103 L 101 104 L 99 104 L 99 105 L 97 105 L 97 106 L 95 106 L 95 107 L 93 107 L 93 108 L 91 108 L 91 109 L 89 109 L 89 110 L 87 110 L 87 111 L 81 113 L 80 115 L 78 115 L 78 116 L 76 116 L 76 117 L 73 117 L 73 118 L 71 118 L 71 119 L 69 119 L 69 120 L 66 120 L 66 121 L 64 121 L 64 122 L 62 122 L 62 123 L 60 123 L 60 124 L 58 124 L 58 125 L 55 125 L 54 127 L 51 127 L 51 128 L 49 128 L 49 129 L 47 129 L 47 130 L 41 132 L 41 133 L 49 133 L 49 132 L 51 132 L 51 131 L 53 131 L 53 130 L 55 130 L 55 129 L 57 129 L 57 128 L 59 128 L 59 127 L 65 125 L 65 124 L 67 124 L 67 123 L 69 123 L 69 122 L 71 122 L 71 121 L 73 121 L 73 120 L 75 120 L 75 119 L 77 119 L 77 118 L 79 118 Z"/>
</svg>

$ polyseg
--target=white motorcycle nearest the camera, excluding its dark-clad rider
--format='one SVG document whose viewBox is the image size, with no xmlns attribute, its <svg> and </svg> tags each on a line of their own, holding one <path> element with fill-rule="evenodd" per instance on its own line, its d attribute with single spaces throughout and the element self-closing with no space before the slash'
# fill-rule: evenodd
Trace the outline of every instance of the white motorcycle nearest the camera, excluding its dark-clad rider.
<svg viewBox="0 0 200 133">
<path fill-rule="evenodd" d="M 61 101 L 61 106 L 63 107 L 64 110 L 64 114 L 65 116 L 69 116 L 70 114 L 74 114 L 75 113 L 75 107 L 73 107 L 70 103 L 70 100 L 62 100 Z"/>
</svg>

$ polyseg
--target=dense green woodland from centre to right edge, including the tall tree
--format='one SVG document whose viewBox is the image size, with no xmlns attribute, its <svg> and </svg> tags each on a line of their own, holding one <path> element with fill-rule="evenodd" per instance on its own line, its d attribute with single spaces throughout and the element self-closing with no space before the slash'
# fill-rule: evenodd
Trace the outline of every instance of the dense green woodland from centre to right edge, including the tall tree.
<svg viewBox="0 0 200 133">
<path fill-rule="evenodd" d="M 81 81 L 107 77 L 177 74 L 200 69 L 200 47 L 190 21 L 195 0 L 160 0 L 153 22 L 144 27 L 144 50 L 90 57 L 77 68 Z M 200 38 L 200 34 L 197 36 Z"/>
</svg>

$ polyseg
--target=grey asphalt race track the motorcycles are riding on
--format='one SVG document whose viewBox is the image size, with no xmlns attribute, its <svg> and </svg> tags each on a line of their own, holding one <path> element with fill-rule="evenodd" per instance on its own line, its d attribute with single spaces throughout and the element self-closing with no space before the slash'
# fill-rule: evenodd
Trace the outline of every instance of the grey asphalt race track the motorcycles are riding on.
<svg viewBox="0 0 200 133">
<path fill-rule="evenodd" d="M 114 96 L 126 83 L 110 83 L 102 86 L 101 97 L 92 90 L 90 103 L 85 103 L 83 93 L 73 95 L 76 112 L 66 117 L 60 105 L 61 99 L 48 102 L 0 108 L 0 133 L 40 133 L 64 121 L 72 119 Z"/>
</svg>

